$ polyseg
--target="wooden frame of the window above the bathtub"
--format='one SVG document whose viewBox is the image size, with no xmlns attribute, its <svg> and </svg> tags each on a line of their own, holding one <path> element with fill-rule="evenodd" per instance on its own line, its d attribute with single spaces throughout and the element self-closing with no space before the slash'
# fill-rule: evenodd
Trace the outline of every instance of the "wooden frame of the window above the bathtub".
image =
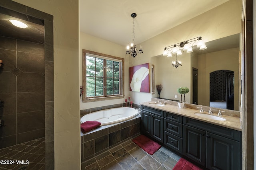
<svg viewBox="0 0 256 170">
<path fill-rule="evenodd" d="M 111 61 L 118 60 L 118 61 L 120 61 L 120 63 L 122 63 L 122 64 L 120 64 L 120 78 L 119 78 L 120 79 L 120 82 L 119 82 L 120 94 L 86 97 L 86 55 L 87 54 L 96 55 L 99 58 L 102 58 L 105 60 L 111 60 Z M 95 51 L 89 51 L 89 50 L 83 49 L 82 76 L 83 76 L 82 84 L 84 87 L 84 93 L 82 95 L 83 103 L 124 98 L 124 58 L 115 57 L 112 55 L 106 55 L 106 54 L 102 54 L 102 53 L 97 53 Z M 104 74 L 103 76 L 104 76 L 104 78 L 106 78 L 106 74 Z M 106 92 L 106 88 L 104 88 L 104 94 L 106 94 L 105 92 Z"/>
</svg>

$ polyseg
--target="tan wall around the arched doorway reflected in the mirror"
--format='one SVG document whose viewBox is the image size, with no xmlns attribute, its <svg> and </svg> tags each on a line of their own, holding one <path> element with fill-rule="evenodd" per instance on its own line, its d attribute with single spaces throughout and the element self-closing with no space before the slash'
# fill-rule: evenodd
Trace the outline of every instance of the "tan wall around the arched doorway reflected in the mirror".
<svg viewBox="0 0 256 170">
<path fill-rule="evenodd" d="M 234 71 L 234 110 L 238 110 L 239 48 L 199 55 L 198 103 L 203 106 L 210 104 L 210 72 L 216 70 Z"/>
</svg>

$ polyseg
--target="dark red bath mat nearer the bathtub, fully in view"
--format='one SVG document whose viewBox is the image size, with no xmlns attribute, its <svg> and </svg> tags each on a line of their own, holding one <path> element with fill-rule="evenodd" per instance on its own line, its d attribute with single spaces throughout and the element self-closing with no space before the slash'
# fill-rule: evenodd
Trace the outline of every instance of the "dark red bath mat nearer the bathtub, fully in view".
<svg viewBox="0 0 256 170">
<path fill-rule="evenodd" d="M 154 154 L 154 152 L 156 152 L 161 147 L 161 145 L 144 135 L 140 135 L 132 139 L 132 141 L 136 143 L 136 145 L 138 145 L 141 149 L 145 150 L 148 154 Z"/>
</svg>

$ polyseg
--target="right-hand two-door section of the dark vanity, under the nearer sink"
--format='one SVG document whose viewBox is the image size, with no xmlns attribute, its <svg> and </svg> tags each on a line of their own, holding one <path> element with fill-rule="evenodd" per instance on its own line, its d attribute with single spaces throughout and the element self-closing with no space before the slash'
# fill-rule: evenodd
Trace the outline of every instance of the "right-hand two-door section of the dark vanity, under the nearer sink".
<svg viewBox="0 0 256 170">
<path fill-rule="evenodd" d="M 241 132 L 183 118 L 182 154 L 210 170 L 241 170 Z"/>
</svg>

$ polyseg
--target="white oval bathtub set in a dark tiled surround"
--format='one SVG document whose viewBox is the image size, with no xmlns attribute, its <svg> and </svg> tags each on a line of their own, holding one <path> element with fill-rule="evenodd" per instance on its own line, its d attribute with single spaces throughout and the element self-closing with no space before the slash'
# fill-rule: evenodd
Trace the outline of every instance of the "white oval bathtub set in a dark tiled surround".
<svg viewBox="0 0 256 170">
<path fill-rule="evenodd" d="M 117 107 L 89 113 L 81 117 L 80 121 L 81 123 L 84 123 L 86 121 L 99 121 L 101 123 L 101 126 L 103 126 L 126 121 L 137 116 L 138 114 L 138 109 L 134 109 L 131 107 Z"/>
</svg>

